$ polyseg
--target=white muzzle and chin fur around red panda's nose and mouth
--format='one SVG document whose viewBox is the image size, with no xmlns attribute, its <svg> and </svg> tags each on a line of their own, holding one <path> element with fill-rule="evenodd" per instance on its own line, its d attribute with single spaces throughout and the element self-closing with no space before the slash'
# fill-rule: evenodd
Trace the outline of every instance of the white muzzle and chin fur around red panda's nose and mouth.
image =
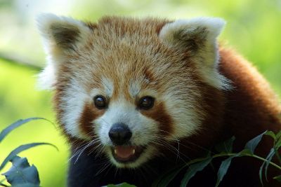
<svg viewBox="0 0 281 187">
<path fill-rule="evenodd" d="M 138 167 L 146 162 L 152 155 L 155 148 L 149 146 L 150 141 L 155 139 L 155 132 L 157 132 L 157 123 L 143 116 L 136 110 L 136 106 L 130 104 L 122 97 L 118 101 L 110 104 L 109 109 L 103 116 L 95 120 L 96 134 L 100 137 L 100 141 L 106 147 L 112 146 L 108 132 L 115 123 L 124 123 L 128 125 L 132 132 L 131 143 L 136 146 L 147 146 L 148 148 L 141 154 L 136 162 L 129 164 L 122 164 L 117 162 L 113 156 L 110 148 L 107 148 L 107 156 L 112 160 L 117 167 Z"/>
</svg>

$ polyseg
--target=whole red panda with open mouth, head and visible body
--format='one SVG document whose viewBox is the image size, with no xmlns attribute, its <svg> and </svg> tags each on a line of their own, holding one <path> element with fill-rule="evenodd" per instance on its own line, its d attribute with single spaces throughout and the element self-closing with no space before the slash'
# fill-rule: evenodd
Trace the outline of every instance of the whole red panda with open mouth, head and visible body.
<svg viewBox="0 0 281 187">
<path fill-rule="evenodd" d="M 220 18 L 93 23 L 44 14 L 38 25 L 48 55 L 39 82 L 54 90 L 58 123 L 72 150 L 68 186 L 151 186 L 229 137 L 241 151 L 265 130 L 281 129 L 280 105 L 265 79 L 218 46 Z M 266 156 L 270 146 L 263 139 L 257 153 Z M 261 186 L 259 165 L 237 158 L 221 186 Z M 210 167 L 189 186 L 215 183 Z"/>
</svg>

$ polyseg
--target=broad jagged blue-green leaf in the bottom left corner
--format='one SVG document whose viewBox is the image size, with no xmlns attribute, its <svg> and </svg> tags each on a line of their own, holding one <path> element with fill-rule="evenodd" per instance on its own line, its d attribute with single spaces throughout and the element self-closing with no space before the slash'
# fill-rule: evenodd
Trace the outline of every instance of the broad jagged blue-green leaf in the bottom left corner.
<svg viewBox="0 0 281 187">
<path fill-rule="evenodd" d="M 27 162 L 27 158 L 20 158 L 15 156 L 11 162 L 13 166 L 5 172 L 8 183 L 12 186 L 39 186 L 39 174 L 37 168 Z"/>
</svg>

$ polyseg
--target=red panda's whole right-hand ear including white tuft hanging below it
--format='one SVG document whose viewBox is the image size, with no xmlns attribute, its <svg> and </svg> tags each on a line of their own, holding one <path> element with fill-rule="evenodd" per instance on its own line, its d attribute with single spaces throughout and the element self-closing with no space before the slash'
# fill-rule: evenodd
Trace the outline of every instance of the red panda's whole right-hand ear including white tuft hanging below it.
<svg viewBox="0 0 281 187">
<path fill-rule="evenodd" d="M 221 18 L 176 20 L 164 25 L 159 32 L 159 39 L 171 48 L 190 51 L 209 85 L 218 89 L 230 89 L 228 79 L 218 72 L 219 54 L 216 39 L 225 24 Z"/>
</svg>

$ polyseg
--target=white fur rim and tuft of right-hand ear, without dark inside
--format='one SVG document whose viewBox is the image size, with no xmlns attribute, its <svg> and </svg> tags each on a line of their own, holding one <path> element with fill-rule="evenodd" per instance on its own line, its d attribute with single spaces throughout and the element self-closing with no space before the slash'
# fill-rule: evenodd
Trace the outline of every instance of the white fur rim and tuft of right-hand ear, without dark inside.
<svg viewBox="0 0 281 187">
<path fill-rule="evenodd" d="M 204 48 L 201 48 L 197 57 L 197 66 L 202 74 L 204 80 L 209 85 L 215 88 L 228 90 L 231 89 L 230 81 L 218 72 L 218 45 L 216 38 L 221 33 L 225 25 L 225 21 L 221 18 L 193 18 L 190 20 L 176 20 L 166 24 L 161 32 L 159 38 L 173 46 L 174 34 L 182 30 L 192 32 L 192 29 L 198 27 L 207 29 L 207 39 L 202 43 Z M 195 57 L 195 58 L 196 58 Z"/>
</svg>

